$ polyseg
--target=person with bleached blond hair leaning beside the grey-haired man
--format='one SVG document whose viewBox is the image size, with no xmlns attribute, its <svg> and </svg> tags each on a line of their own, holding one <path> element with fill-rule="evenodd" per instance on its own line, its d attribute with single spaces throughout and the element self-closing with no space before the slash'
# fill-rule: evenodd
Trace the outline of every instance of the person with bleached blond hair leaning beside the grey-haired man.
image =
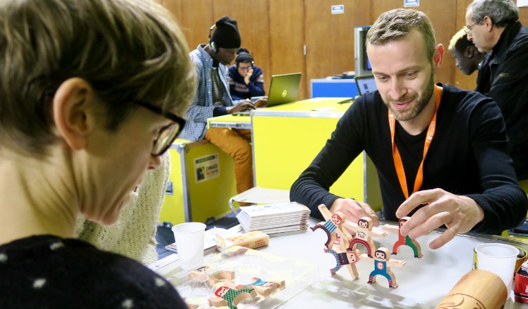
<svg viewBox="0 0 528 309">
<path fill-rule="evenodd" d="M 454 34 L 448 49 L 456 59 L 456 67 L 465 75 L 471 75 L 474 71 L 480 69 L 485 54 L 478 52 L 475 45 L 467 40 L 465 28 Z"/>
</svg>

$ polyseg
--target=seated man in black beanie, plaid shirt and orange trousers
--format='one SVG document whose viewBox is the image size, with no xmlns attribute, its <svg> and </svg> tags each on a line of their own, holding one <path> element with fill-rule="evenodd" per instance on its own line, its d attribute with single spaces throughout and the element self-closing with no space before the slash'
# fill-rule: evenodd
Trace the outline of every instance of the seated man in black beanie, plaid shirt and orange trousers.
<svg viewBox="0 0 528 309">
<path fill-rule="evenodd" d="M 214 32 L 212 32 L 214 30 Z M 212 32 L 212 34 L 211 34 Z M 267 99 L 233 101 L 229 93 L 228 67 L 241 44 L 238 24 L 223 16 L 209 30 L 209 43 L 198 45 L 190 52 L 197 73 L 195 98 L 186 114 L 187 125 L 182 139 L 207 139 L 234 158 L 236 192 L 253 187 L 253 161 L 251 130 L 234 128 L 207 128 L 207 119 L 250 111 L 265 106 Z"/>
</svg>

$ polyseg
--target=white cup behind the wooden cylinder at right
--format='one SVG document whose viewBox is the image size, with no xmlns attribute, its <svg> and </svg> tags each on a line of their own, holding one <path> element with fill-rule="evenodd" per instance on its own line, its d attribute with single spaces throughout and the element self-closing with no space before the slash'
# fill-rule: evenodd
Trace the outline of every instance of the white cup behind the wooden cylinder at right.
<svg viewBox="0 0 528 309">
<path fill-rule="evenodd" d="M 519 250 L 509 244 L 488 243 L 476 246 L 475 252 L 476 268 L 496 273 L 503 279 L 509 295 Z"/>
</svg>

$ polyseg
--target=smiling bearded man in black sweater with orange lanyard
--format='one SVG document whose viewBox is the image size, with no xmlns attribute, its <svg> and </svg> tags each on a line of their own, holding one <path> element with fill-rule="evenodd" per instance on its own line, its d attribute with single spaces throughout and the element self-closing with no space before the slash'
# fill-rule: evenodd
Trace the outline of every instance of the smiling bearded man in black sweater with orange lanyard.
<svg viewBox="0 0 528 309">
<path fill-rule="evenodd" d="M 445 226 L 430 242 L 442 247 L 457 233 L 501 233 L 520 225 L 527 196 L 517 184 L 496 102 L 474 91 L 434 84 L 443 46 L 417 10 L 384 12 L 366 36 L 377 91 L 366 93 L 290 190 L 290 200 L 318 205 L 346 220 L 379 218 L 370 205 L 329 192 L 363 151 L 380 179 L 386 220 L 410 216 L 401 235 L 416 239 Z"/>
</svg>

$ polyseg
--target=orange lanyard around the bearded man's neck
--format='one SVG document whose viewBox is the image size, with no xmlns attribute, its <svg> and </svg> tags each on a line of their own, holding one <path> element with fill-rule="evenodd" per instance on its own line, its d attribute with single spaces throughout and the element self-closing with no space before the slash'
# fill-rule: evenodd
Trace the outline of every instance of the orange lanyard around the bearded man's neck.
<svg viewBox="0 0 528 309">
<path fill-rule="evenodd" d="M 434 115 L 432 116 L 431 122 L 429 124 L 429 128 L 427 129 L 426 142 L 423 144 L 423 158 L 421 159 L 420 167 L 418 168 L 418 172 L 416 174 L 415 187 L 414 187 L 414 190 L 412 190 L 412 193 L 417 192 L 421 187 L 421 183 L 423 183 L 423 161 L 426 160 L 427 151 L 429 150 L 429 146 L 431 145 L 432 137 L 434 137 L 434 130 L 437 128 L 437 111 L 438 111 L 438 106 L 440 105 L 440 96 L 441 96 L 440 87 L 438 87 L 437 85 L 434 85 L 434 91 L 437 95 L 437 103 L 434 109 Z M 394 159 L 394 165 L 396 167 L 396 173 L 398 175 L 399 185 L 401 186 L 401 190 L 404 192 L 404 196 L 407 199 L 409 198 L 409 190 L 407 188 L 407 179 L 405 177 L 404 163 L 401 161 L 401 156 L 399 155 L 398 146 L 396 146 L 396 143 L 394 142 L 396 119 L 393 116 L 393 113 L 391 113 L 391 111 L 388 111 L 388 126 L 391 127 L 391 140 L 393 143 L 393 159 Z"/>
</svg>

